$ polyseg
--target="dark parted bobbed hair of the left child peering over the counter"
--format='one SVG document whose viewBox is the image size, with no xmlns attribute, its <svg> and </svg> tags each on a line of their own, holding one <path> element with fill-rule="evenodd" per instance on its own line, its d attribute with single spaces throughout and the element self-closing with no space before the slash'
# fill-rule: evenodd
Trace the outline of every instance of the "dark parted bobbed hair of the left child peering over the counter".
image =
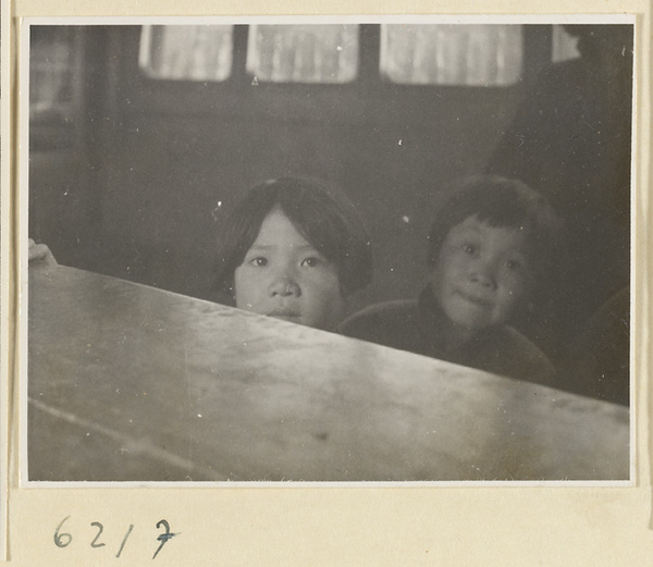
<svg viewBox="0 0 653 567">
<path fill-rule="evenodd" d="M 337 269 L 347 296 L 372 279 L 368 233 L 354 205 L 334 185 L 312 177 L 282 177 L 251 188 L 224 219 L 218 242 L 217 286 L 233 303 L 234 272 L 256 241 L 261 224 L 279 207 L 295 230 Z"/>
</svg>

